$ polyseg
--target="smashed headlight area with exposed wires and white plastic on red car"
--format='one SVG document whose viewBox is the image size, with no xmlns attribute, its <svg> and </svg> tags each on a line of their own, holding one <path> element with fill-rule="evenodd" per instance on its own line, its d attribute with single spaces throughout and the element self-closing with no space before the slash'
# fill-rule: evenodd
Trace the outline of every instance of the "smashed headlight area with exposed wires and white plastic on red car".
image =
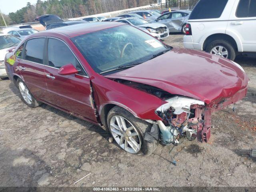
<svg viewBox="0 0 256 192">
<path fill-rule="evenodd" d="M 200 136 L 198 129 L 204 124 L 204 102 L 175 96 L 166 100 L 166 104 L 156 109 L 163 121 L 158 121 L 163 144 L 178 144 L 179 138 L 194 140 Z"/>
</svg>

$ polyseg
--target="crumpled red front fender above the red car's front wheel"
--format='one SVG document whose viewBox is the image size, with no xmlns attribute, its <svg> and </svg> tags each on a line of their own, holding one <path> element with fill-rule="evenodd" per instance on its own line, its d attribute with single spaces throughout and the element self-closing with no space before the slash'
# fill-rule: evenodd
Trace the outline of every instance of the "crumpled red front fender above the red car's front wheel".
<svg viewBox="0 0 256 192">
<path fill-rule="evenodd" d="M 161 120 L 155 110 L 166 103 L 164 100 L 100 75 L 91 78 L 91 82 L 98 114 L 101 114 L 107 104 L 114 104 L 128 110 L 137 118 Z"/>
</svg>

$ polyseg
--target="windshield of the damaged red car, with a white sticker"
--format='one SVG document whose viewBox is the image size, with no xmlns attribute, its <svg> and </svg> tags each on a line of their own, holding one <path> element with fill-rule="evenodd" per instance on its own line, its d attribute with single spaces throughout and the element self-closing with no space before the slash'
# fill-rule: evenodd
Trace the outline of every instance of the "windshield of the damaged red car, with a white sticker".
<svg viewBox="0 0 256 192">
<path fill-rule="evenodd" d="M 71 40 L 97 73 L 146 62 L 155 54 L 170 49 L 154 37 L 129 25 L 76 36 Z"/>
</svg>

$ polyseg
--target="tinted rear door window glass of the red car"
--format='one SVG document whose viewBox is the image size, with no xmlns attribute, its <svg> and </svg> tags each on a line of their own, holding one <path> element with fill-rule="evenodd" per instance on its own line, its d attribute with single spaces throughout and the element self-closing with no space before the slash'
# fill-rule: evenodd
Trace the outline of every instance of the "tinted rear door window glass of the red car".
<svg viewBox="0 0 256 192">
<path fill-rule="evenodd" d="M 25 60 L 43 64 L 44 39 L 35 38 L 28 40 L 25 48 Z"/>
</svg>

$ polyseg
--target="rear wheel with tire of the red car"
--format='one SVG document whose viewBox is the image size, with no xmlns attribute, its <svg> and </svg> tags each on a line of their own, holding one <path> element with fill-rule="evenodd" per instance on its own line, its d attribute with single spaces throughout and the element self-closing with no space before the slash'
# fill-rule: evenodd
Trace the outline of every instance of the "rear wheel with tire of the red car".
<svg viewBox="0 0 256 192">
<path fill-rule="evenodd" d="M 38 106 L 40 106 L 42 104 L 41 102 L 38 102 L 33 97 L 33 95 L 28 90 L 28 87 L 26 86 L 26 84 L 20 78 L 18 78 L 18 80 L 17 80 L 17 85 L 18 85 L 18 89 L 20 91 L 21 100 L 27 106 L 29 106 L 31 108 L 36 108 L 36 107 L 38 107 Z"/>
</svg>

